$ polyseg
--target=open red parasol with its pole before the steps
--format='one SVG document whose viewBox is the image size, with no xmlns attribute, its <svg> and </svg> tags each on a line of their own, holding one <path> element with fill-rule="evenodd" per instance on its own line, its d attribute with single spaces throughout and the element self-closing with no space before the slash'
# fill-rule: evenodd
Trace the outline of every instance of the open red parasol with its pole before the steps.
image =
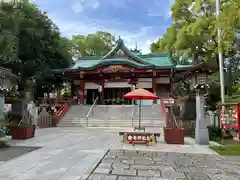
<svg viewBox="0 0 240 180">
<path fill-rule="evenodd" d="M 157 100 L 159 99 L 158 96 L 155 94 L 145 90 L 145 89 L 136 89 L 133 90 L 123 96 L 125 99 L 134 99 L 134 100 L 140 100 L 139 103 L 139 128 L 140 128 L 140 122 L 141 122 L 141 110 L 142 110 L 142 101 L 141 100 Z"/>
</svg>

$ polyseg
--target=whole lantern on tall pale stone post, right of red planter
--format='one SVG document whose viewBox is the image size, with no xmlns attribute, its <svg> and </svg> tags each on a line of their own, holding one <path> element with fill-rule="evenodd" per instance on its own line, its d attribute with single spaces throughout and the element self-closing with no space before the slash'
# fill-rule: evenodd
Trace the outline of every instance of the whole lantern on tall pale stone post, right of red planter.
<svg viewBox="0 0 240 180">
<path fill-rule="evenodd" d="M 192 77 L 192 89 L 196 92 L 196 127 L 195 141 L 200 145 L 209 144 L 209 134 L 207 129 L 207 120 L 205 118 L 205 94 L 208 85 L 208 77 L 206 73 L 196 72 Z"/>
</svg>

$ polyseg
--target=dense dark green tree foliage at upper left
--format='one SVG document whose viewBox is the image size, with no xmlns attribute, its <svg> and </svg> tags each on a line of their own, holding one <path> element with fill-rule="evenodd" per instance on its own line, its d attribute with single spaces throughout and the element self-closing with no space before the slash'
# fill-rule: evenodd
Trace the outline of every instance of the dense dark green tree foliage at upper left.
<svg viewBox="0 0 240 180">
<path fill-rule="evenodd" d="M 20 76 L 22 89 L 29 80 L 37 82 L 39 89 L 46 77 L 55 84 L 50 69 L 69 66 L 70 41 L 34 4 L 13 1 L 0 6 L 0 65 Z"/>
</svg>

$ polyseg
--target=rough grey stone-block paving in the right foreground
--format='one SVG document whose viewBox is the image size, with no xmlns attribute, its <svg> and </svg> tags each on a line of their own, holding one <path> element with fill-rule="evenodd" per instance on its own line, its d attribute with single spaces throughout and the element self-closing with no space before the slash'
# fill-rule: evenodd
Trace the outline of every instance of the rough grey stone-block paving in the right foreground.
<svg viewBox="0 0 240 180">
<path fill-rule="evenodd" d="M 88 180 L 240 180 L 240 157 L 111 150 Z"/>
</svg>

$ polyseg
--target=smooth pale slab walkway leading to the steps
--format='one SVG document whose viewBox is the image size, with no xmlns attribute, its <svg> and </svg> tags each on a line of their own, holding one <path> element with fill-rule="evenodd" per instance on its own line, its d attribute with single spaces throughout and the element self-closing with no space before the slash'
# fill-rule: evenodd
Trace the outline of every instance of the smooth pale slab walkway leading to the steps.
<svg viewBox="0 0 240 180">
<path fill-rule="evenodd" d="M 116 139 L 115 129 L 46 128 L 14 146 L 42 147 L 0 164 L 1 180 L 85 179 Z M 84 178 L 85 177 L 85 178 Z"/>
</svg>

